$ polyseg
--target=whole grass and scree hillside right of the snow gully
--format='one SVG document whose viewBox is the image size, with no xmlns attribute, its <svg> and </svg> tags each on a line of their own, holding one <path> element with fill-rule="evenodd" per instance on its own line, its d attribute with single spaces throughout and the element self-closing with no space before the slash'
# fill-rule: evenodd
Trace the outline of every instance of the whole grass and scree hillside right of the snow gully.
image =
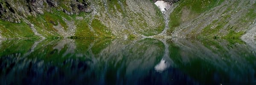
<svg viewBox="0 0 256 85">
<path fill-rule="evenodd" d="M 256 29 L 256 0 L 180 0 L 174 6 L 167 32 L 173 37 L 240 38 L 249 32 L 256 34 L 250 31 Z"/>
</svg>

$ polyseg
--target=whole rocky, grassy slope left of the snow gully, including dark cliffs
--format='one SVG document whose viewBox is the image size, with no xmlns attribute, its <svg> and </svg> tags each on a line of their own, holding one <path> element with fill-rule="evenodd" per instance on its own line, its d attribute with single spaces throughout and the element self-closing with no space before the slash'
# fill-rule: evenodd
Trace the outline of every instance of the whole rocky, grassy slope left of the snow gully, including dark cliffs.
<svg viewBox="0 0 256 85">
<path fill-rule="evenodd" d="M 164 27 L 152 0 L 0 0 L 0 38 L 138 37 Z"/>
</svg>

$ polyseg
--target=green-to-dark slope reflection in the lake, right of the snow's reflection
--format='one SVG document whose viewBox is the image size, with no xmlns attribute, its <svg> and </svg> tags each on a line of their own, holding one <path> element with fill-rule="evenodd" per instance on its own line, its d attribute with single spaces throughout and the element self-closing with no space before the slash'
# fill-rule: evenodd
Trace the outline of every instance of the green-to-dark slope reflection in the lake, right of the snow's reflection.
<svg viewBox="0 0 256 85">
<path fill-rule="evenodd" d="M 218 79 L 227 83 L 256 81 L 253 76 L 256 63 L 250 62 L 256 59 L 256 53 L 248 45 L 230 43 L 226 40 L 177 40 L 175 45 L 180 48 L 178 53 L 173 53 L 175 55 L 171 53 L 171 58 L 175 59 L 175 67 L 185 67 L 184 71 L 192 77 L 201 80 L 205 77 L 198 75 L 214 74 L 209 77 L 215 77 L 210 80 L 212 82 L 219 82 Z M 223 79 L 224 77 L 228 79 Z"/>
</svg>

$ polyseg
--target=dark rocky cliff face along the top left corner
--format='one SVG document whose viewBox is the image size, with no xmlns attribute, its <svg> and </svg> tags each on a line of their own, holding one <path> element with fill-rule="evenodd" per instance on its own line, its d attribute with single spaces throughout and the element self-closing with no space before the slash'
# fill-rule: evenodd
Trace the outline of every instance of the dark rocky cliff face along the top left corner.
<svg viewBox="0 0 256 85">
<path fill-rule="evenodd" d="M 44 11 L 50 11 L 51 8 L 63 6 L 63 3 L 58 0 L 3 0 L 0 1 L 0 19 L 20 23 L 22 17 L 36 16 L 44 14 Z M 59 11 L 64 11 L 66 14 L 79 14 L 81 11 L 89 12 L 89 4 L 86 0 L 71 0 L 68 5 L 65 5 L 70 10 L 61 8 Z"/>
</svg>

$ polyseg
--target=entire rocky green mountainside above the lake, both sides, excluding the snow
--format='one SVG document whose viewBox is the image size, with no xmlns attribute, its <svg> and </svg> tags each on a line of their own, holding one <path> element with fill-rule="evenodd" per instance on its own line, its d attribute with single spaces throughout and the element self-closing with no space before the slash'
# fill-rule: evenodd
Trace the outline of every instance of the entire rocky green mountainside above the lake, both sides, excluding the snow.
<svg viewBox="0 0 256 85">
<path fill-rule="evenodd" d="M 0 0 L 0 38 L 247 38 L 256 0 Z"/>
</svg>

